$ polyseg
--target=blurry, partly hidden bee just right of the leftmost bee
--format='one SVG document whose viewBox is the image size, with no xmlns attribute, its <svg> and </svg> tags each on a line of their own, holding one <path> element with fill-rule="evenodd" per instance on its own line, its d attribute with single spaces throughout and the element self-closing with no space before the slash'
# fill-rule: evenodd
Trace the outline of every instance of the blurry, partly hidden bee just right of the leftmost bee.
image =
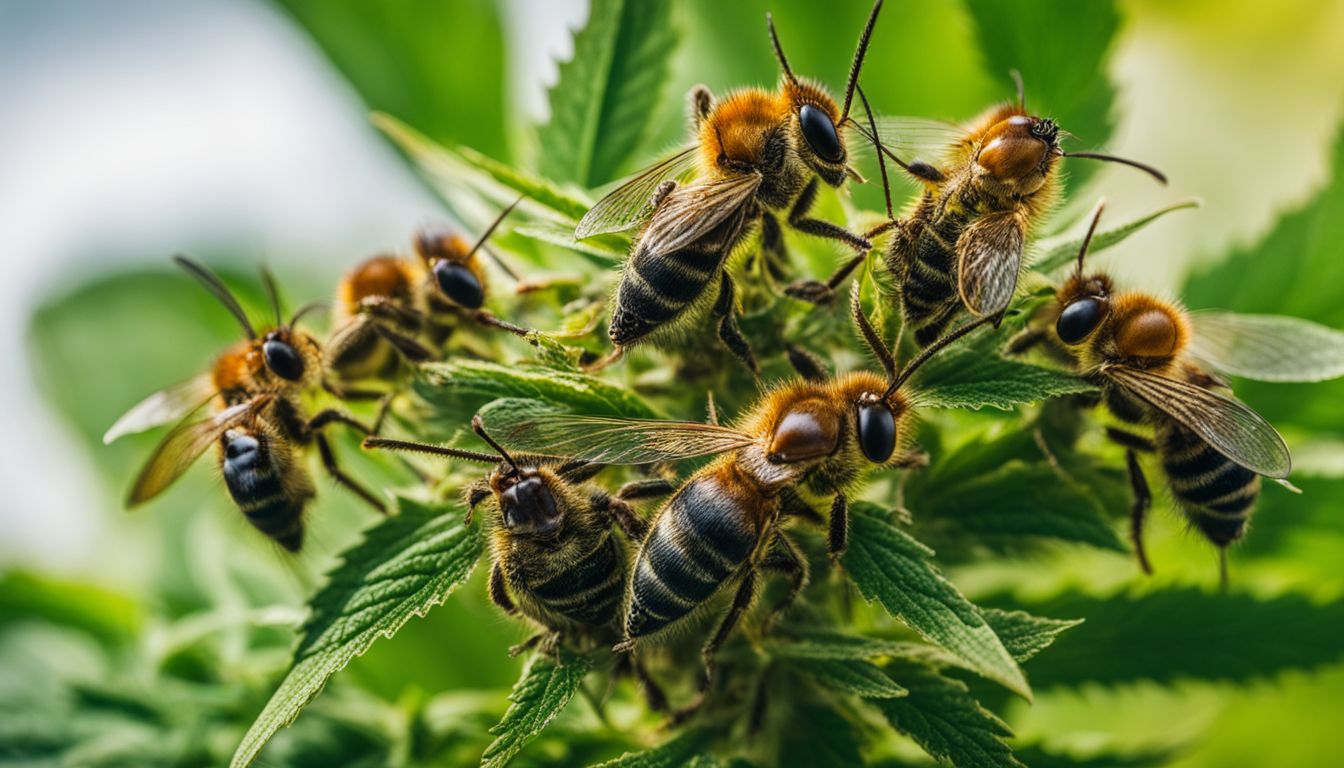
<svg viewBox="0 0 1344 768">
<path fill-rule="evenodd" d="M 401 362 L 434 359 L 464 320 L 526 336 L 527 328 L 482 309 L 488 292 L 480 253 L 509 204 L 474 242 L 445 230 L 422 230 L 415 258 L 375 256 L 341 278 L 328 343 L 331 369 L 344 382 L 395 375 Z M 497 261 L 497 260 L 496 260 Z M 511 277 L 508 266 L 497 261 Z"/>
</svg>

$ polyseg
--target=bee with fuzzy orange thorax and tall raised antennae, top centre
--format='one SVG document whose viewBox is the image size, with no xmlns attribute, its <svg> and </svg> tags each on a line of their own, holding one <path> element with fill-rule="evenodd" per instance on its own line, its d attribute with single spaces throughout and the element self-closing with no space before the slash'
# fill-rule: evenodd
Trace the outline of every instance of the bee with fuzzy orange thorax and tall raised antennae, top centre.
<svg viewBox="0 0 1344 768">
<path fill-rule="evenodd" d="M 808 213 L 821 182 L 840 187 L 847 178 L 859 178 L 849 165 L 844 135 L 880 8 L 880 0 L 874 3 L 859 39 L 843 108 L 823 86 L 793 74 L 767 16 L 784 70 L 780 89 L 737 90 L 715 104 L 708 89 L 696 86 L 691 90 L 695 144 L 640 172 L 583 217 L 574 231 L 578 239 L 644 225 L 612 309 L 609 335 L 616 350 L 598 366 L 614 362 L 626 347 L 685 334 L 708 312 L 727 348 L 755 371 L 755 358 L 737 327 L 734 282 L 724 265 L 758 221 L 762 256 L 774 266 L 785 260 L 775 218 L 782 211 L 796 230 L 859 252 L 828 284 L 805 281 L 789 288 L 812 301 L 828 300 L 872 247 L 866 238 Z"/>
</svg>

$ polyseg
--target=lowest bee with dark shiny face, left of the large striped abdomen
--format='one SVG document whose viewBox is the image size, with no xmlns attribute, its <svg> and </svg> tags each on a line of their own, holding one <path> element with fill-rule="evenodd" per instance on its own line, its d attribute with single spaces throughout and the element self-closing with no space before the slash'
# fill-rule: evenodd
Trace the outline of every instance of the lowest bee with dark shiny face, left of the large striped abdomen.
<svg viewBox="0 0 1344 768">
<path fill-rule="evenodd" d="M 629 580 L 630 545 L 648 533 L 648 523 L 630 502 L 665 496 L 672 484 L 636 480 L 609 494 L 589 482 L 602 464 L 515 459 L 487 433 L 480 416 L 472 420 L 472 429 L 493 455 L 383 437 L 368 437 L 364 447 L 495 464 L 488 477 L 465 491 L 466 522 L 482 502 L 492 500 L 497 515 L 491 521 L 491 601 L 542 628 L 511 655 L 534 646 L 554 654 L 570 635 L 614 638 Z M 613 525 L 625 542 L 613 535 Z M 661 691 L 642 667 L 633 668 L 652 702 L 661 701 Z"/>
</svg>

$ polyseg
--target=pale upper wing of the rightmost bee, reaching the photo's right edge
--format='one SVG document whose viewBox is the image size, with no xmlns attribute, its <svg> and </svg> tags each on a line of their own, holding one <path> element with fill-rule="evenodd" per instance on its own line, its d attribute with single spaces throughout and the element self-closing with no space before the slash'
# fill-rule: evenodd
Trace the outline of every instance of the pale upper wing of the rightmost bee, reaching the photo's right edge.
<svg viewBox="0 0 1344 768">
<path fill-rule="evenodd" d="M 1219 371 L 1265 382 L 1344 375 L 1344 332 L 1281 315 L 1191 312 L 1191 352 Z"/>
</svg>

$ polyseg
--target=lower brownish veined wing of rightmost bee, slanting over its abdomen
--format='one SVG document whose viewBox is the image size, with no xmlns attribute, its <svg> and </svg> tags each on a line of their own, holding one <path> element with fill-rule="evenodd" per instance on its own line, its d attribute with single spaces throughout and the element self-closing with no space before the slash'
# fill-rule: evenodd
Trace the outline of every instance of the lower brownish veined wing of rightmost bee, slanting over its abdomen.
<svg viewBox="0 0 1344 768">
<path fill-rule="evenodd" d="M 1279 479 L 1293 467 L 1278 430 L 1241 401 L 1129 366 L 1107 366 L 1102 374 L 1253 472 Z"/>
</svg>

